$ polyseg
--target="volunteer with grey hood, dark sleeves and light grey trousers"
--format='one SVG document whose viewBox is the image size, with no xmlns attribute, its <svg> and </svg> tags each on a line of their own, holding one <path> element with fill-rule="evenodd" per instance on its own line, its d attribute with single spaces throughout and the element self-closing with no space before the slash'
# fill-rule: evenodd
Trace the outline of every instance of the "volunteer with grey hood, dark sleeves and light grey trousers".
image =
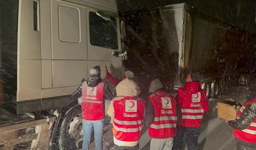
<svg viewBox="0 0 256 150">
<path fill-rule="evenodd" d="M 151 137 L 150 150 L 171 150 L 176 135 L 176 100 L 164 92 L 162 83 L 150 83 L 145 126 Z"/>
</svg>

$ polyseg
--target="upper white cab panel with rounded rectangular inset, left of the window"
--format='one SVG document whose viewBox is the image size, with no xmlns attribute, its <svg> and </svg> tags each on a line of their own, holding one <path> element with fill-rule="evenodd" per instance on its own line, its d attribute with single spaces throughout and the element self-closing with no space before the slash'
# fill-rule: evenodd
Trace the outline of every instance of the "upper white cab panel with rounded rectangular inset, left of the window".
<svg viewBox="0 0 256 150">
<path fill-rule="evenodd" d="M 86 60 L 86 8 L 52 0 L 52 59 Z"/>
</svg>

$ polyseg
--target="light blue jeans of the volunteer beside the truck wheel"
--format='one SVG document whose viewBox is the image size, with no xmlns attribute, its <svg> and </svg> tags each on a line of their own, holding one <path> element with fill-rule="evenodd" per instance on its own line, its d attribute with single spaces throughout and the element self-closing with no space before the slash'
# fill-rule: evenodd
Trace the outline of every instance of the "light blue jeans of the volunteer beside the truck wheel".
<svg viewBox="0 0 256 150">
<path fill-rule="evenodd" d="M 102 120 L 96 120 L 96 121 L 83 119 L 84 139 L 83 139 L 82 150 L 89 150 L 92 128 L 94 129 L 95 150 L 102 150 L 103 122 L 104 122 L 104 118 Z"/>
</svg>

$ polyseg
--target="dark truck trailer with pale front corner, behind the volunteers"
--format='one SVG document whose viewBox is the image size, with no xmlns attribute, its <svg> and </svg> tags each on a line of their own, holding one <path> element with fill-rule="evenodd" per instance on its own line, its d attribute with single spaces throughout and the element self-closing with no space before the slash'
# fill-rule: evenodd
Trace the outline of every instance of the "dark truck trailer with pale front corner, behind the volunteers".
<svg viewBox="0 0 256 150">
<path fill-rule="evenodd" d="M 201 86 L 208 98 L 216 98 L 231 86 L 247 85 L 255 74 L 255 34 L 185 3 L 124 13 L 128 68 L 140 76 L 159 78 L 169 90 L 184 85 L 186 74 L 203 75 Z M 255 69 L 254 69 L 255 70 Z M 241 78 L 242 77 L 242 78 Z M 242 80 L 241 80 L 242 79 Z"/>
</svg>

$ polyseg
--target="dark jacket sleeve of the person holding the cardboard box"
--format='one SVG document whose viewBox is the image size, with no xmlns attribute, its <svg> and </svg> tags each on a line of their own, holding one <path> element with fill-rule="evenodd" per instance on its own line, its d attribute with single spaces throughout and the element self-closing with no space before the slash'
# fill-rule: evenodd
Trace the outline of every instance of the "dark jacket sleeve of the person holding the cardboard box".
<svg viewBox="0 0 256 150">
<path fill-rule="evenodd" d="M 248 128 L 248 126 L 252 123 L 254 119 L 256 119 L 256 105 L 248 104 L 246 108 L 243 110 L 239 119 L 230 120 L 228 124 L 235 129 L 244 130 Z"/>
</svg>

